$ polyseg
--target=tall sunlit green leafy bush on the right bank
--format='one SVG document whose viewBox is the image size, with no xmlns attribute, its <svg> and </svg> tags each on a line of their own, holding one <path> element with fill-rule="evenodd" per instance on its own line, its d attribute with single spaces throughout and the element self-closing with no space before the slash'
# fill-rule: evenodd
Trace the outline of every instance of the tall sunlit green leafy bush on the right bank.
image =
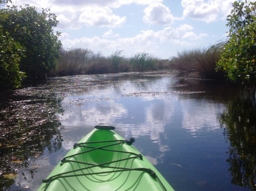
<svg viewBox="0 0 256 191">
<path fill-rule="evenodd" d="M 217 69 L 234 82 L 255 89 L 256 85 L 256 2 L 234 2 L 227 17 L 229 41 L 224 45 Z"/>
</svg>

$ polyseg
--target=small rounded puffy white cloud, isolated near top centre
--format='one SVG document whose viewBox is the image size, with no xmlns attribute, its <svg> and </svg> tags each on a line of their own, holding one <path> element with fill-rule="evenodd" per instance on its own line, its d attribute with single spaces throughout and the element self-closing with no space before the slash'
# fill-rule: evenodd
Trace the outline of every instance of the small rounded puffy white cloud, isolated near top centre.
<svg viewBox="0 0 256 191">
<path fill-rule="evenodd" d="M 169 7 L 162 3 L 150 4 L 144 10 L 143 20 L 149 24 L 169 25 L 174 22 L 175 17 L 171 14 Z"/>
</svg>

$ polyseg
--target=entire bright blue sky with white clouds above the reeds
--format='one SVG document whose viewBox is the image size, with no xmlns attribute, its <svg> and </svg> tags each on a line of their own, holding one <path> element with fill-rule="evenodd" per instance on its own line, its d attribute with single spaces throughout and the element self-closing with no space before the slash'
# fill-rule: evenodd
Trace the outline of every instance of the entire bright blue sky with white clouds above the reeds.
<svg viewBox="0 0 256 191">
<path fill-rule="evenodd" d="M 82 48 L 109 56 L 149 53 L 169 59 L 227 38 L 234 0 L 13 0 L 50 9 L 65 49 Z"/>
</svg>

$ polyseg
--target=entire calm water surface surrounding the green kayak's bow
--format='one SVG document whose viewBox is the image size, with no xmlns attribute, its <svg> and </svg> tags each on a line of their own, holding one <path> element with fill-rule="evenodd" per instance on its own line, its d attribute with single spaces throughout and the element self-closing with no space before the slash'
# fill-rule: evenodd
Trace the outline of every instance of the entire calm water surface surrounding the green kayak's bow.
<svg viewBox="0 0 256 191">
<path fill-rule="evenodd" d="M 256 112 L 232 84 L 167 71 L 50 79 L 0 101 L 0 190 L 36 190 L 99 123 L 176 190 L 256 190 Z"/>
</svg>

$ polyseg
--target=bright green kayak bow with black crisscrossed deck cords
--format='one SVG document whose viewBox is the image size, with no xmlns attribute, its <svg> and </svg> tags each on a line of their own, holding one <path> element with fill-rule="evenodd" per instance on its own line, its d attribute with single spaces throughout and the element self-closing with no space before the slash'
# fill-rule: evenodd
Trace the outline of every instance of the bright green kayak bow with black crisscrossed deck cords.
<svg viewBox="0 0 256 191">
<path fill-rule="evenodd" d="M 159 171 L 124 140 L 100 124 L 62 159 L 38 190 L 174 190 Z"/>
</svg>

